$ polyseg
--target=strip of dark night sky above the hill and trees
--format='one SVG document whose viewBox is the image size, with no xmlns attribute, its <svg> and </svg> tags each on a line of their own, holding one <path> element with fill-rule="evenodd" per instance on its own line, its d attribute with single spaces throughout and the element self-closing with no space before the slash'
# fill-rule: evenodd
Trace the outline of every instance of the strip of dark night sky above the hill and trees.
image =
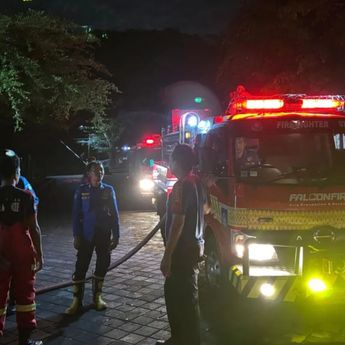
<svg viewBox="0 0 345 345">
<path fill-rule="evenodd" d="M 0 12 L 28 7 L 99 30 L 162 30 L 219 33 L 240 0 L 1 0 Z"/>
</svg>

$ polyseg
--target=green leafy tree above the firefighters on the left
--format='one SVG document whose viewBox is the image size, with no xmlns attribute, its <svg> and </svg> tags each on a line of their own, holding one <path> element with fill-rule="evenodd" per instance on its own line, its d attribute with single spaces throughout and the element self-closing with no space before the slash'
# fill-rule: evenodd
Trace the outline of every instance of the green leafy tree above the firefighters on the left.
<svg viewBox="0 0 345 345">
<path fill-rule="evenodd" d="M 87 30 L 43 12 L 0 15 L 1 116 L 16 131 L 25 122 L 68 126 L 81 112 L 102 122 L 116 87 L 94 59 L 97 44 Z"/>
</svg>

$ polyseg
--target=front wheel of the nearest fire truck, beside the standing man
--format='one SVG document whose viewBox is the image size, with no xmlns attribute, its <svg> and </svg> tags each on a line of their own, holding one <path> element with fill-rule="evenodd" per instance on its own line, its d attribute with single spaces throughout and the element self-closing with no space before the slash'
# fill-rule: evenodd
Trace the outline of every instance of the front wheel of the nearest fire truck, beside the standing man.
<svg viewBox="0 0 345 345">
<path fill-rule="evenodd" d="M 210 234 L 205 241 L 205 255 L 205 278 L 208 288 L 221 290 L 225 285 L 226 271 L 221 264 L 215 238 Z"/>
</svg>

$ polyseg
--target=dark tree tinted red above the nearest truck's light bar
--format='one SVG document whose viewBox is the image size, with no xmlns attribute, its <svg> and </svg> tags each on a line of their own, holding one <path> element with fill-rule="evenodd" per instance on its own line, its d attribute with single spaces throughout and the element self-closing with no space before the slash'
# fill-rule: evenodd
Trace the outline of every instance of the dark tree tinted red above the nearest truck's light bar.
<svg viewBox="0 0 345 345">
<path fill-rule="evenodd" d="M 224 40 L 218 73 L 227 91 L 343 93 L 345 4 L 340 0 L 245 1 Z"/>
</svg>

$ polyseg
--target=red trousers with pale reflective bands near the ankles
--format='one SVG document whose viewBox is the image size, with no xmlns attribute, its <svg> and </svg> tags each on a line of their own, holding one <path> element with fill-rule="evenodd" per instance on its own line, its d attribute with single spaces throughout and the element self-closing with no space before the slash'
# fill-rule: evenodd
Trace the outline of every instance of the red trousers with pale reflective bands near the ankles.
<svg viewBox="0 0 345 345">
<path fill-rule="evenodd" d="M 6 304 L 11 281 L 14 283 L 18 329 L 32 330 L 35 320 L 34 249 L 28 231 L 22 227 L 0 228 L 0 335 L 5 327 Z"/>
</svg>

